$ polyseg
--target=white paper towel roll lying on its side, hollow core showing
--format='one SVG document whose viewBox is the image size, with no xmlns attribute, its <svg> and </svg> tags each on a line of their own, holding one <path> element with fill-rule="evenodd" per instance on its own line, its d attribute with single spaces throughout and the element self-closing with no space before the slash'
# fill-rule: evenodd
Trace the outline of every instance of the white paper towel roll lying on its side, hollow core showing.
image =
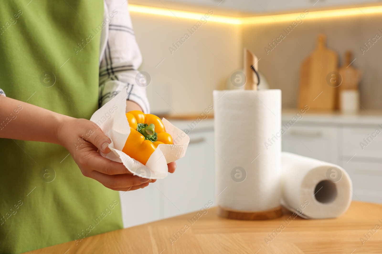
<svg viewBox="0 0 382 254">
<path fill-rule="evenodd" d="M 350 206 L 353 185 L 338 165 L 282 152 L 283 206 L 306 219 L 335 218 Z"/>
</svg>

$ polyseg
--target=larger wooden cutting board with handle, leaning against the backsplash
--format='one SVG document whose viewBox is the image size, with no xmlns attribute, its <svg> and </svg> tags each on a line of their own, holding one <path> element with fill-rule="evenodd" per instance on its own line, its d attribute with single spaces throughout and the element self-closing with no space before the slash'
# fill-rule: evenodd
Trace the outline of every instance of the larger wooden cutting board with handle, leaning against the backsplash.
<svg viewBox="0 0 382 254">
<path fill-rule="evenodd" d="M 308 105 L 310 109 L 333 110 L 337 107 L 336 98 L 338 87 L 335 86 L 337 75 L 338 56 L 333 50 L 325 46 L 326 37 L 320 34 L 314 51 L 304 59 L 301 65 L 300 89 L 298 107 Z M 327 77 L 330 76 L 332 84 L 329 85 Z"/>
</svg>

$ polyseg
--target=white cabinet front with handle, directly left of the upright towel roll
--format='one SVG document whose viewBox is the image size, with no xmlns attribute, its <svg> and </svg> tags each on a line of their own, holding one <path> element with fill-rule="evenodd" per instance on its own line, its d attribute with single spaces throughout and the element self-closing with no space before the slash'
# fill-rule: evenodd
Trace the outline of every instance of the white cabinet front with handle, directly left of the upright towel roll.
<svg viewBox="0 0 382 254">
<path fill-rule="evenodd" d="M 175 173 L 158 180 L 163 217 L 197 211 L 209 200 L 215 202 L 214 132 L 191 131 L 189 137 L 186 156 L 176 161 Z"/>
</svg>

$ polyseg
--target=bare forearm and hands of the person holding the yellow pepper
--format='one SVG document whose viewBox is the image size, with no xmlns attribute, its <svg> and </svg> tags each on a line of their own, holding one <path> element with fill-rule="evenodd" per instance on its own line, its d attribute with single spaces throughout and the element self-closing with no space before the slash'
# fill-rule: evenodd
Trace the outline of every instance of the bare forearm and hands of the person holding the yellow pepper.
<svg viewBox="0 0 382 254">
<path fill-rule="evenodd" d="M 126 101 L 126 109 L 138 106 Z M 52 112 L 35 105 L 0 96 L 0 118 L 11 117 L 2 127 L 0 138 L 59 144 L 69 150 L 84 176 L 91 177 L 112 190 L 136 190 L 156 180 L 133 176 L 122 163 L 102 157 L 97 150 L 110 152 L 110 139 L 98 125 Z M 175 162 L 168 163 L 168 172 L 175 171 Z"/>
</svg>

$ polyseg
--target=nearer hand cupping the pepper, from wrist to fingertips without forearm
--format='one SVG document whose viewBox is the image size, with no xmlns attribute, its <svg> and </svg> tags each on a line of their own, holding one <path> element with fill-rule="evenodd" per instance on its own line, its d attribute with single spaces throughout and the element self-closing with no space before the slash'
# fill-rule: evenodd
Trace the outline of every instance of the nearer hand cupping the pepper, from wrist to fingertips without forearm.
<svg viewBox="0 0 382 254">
<path fill-rule="evenodd" d="M 109 189 L 137 190 L 156 181 L 133 176 L 122 163 L 102 157 L 97 150 L 109 153 L 110 139 L 92 121 L 66 117 L 57 126 L 57 139 L 68 149 L 84 176 L 99 181 Z"/>
</svg>

